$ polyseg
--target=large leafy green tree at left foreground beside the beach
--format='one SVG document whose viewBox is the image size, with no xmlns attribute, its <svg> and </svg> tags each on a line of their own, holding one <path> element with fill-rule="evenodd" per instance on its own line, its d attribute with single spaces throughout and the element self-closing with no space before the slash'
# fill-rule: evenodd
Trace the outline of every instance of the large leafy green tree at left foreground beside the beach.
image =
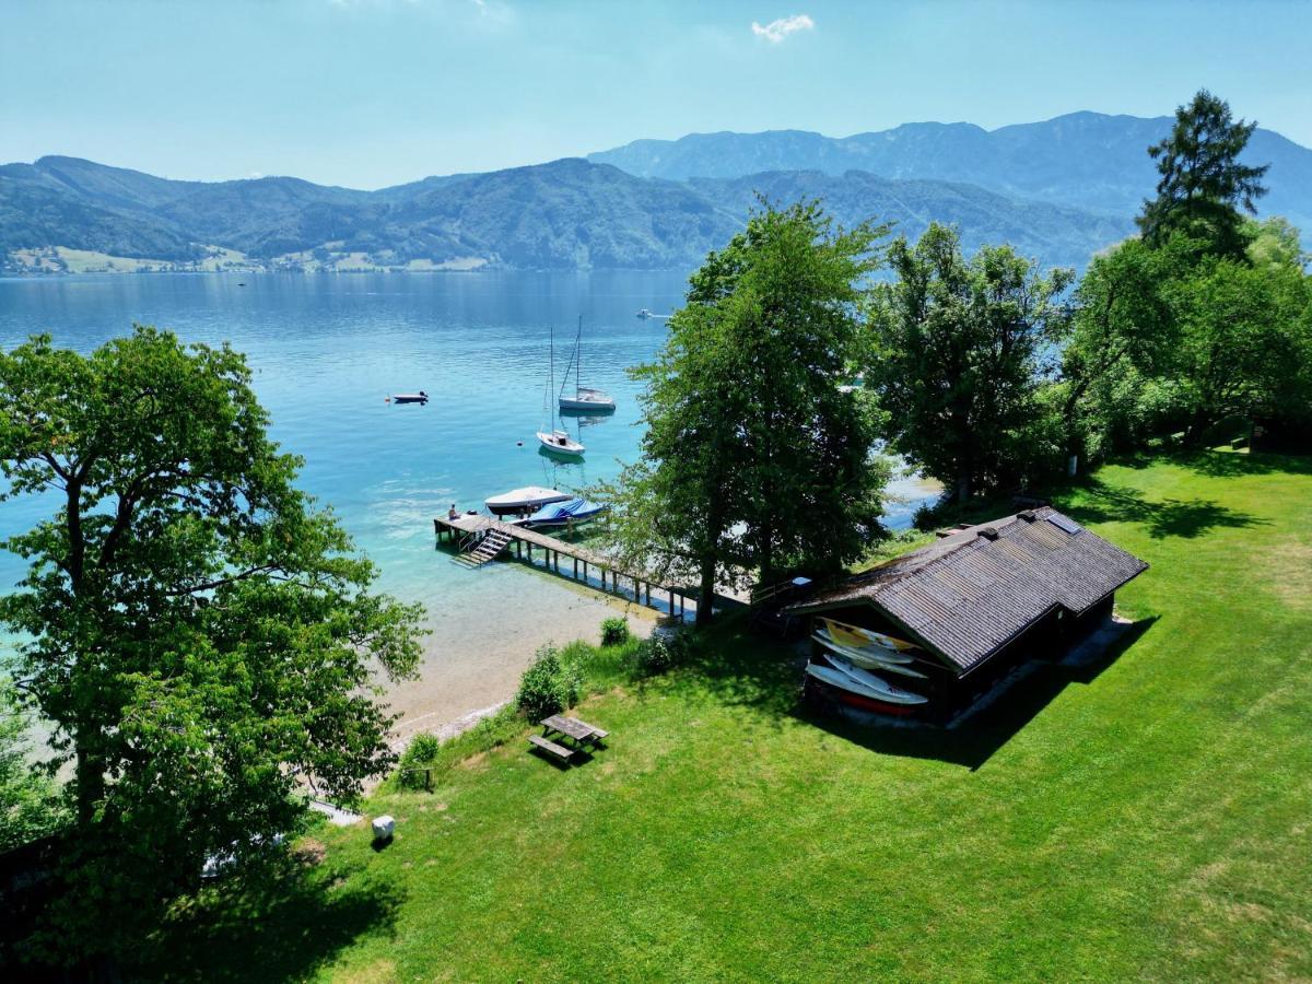
<svg viewBox="0 0 1312 984">
<path fill-rule="evenodd" d="M 0 353 L 4 497 L 50 516 L 0 618 L 72 762 L 54 909 L 66 954 L 114 953 L 207 857 L 293 830 L 307 785 L 350 798 L 391 761 L 374 665 L 417 665 L 421 611 L 294 482 L 245 359 L 138 327 L 91 356 Z"/>
</svg>

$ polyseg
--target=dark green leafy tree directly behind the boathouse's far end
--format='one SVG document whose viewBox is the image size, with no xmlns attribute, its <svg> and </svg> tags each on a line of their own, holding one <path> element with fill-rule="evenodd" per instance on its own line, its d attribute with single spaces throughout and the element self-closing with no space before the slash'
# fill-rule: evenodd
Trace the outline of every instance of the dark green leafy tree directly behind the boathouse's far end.
<svg viewBox="0 0 1312 984">
<path fill-rule="evenodd" d="M 890 446 L 958 500 L 1025 478 L 1055 453 L 1036 398 L 1073 274 L 1042 274 L 1010 247 L 967 260 L 937 223 L 888 255 L 897 278 L 872 297 L 867 383 L 888 411 Z"/>
</svg>

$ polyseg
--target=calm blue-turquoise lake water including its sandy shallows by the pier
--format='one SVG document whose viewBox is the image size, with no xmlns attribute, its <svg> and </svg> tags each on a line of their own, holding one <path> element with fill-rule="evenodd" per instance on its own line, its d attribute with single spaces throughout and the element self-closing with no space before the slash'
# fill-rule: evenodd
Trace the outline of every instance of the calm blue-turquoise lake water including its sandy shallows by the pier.
<svg viewBox="0 0 1312 984">
<path fill-rule="evenodd" d="M 245 352 L 274 437 L 306 459 L 303 487 L 379 564 L 383 588 L 428 606 L 425 680 L 394 697 L 408 715 L 442 718 L 504 697 L 539 643 L 594 626 L 605 607 L 518 565 L 451 564 L 434 554 L 432 517 L 518 485 L 581 487 L 632 461 L 638 387 L 625 369 L 665 338 L 664 321 L 634 315 L 673 310 L 685 281 L 677 273 L 10 278 L 0 279 L 0 345 L 49 331 L 87 352 L 140 321 Z M 585 382 L 610 391 L 618 409 L 568 421 L 588 453 L 583 463 L 559 464 L 534 437 L 547 331 L 555 327 L 559 380 L 580 315 Z M 420 388 L 428 405 L 384 403 Z M 900 491 L 922 496 L 913 484 Z M 0 537 L 45 508 L 0 504 Z M 893 505 L 895 521 L 904 523 L 909 509 Z M 21 573 L 18 558 L 0 551 L 0 590 Z"/>
</svg>

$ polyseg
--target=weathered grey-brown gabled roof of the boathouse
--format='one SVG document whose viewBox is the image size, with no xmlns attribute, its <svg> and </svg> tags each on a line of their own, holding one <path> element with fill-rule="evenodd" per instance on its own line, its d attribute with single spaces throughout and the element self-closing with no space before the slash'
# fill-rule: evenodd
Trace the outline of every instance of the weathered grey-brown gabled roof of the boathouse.
<svg viewBox="0 0 1312 984">
<path fill-rule="evenodd" d="M 872 605 L 966 673 L 1054 606 L 1082 614 L 1147 568 L 1043 506 L 904 554 L 790 611 Z"/>
</svg>

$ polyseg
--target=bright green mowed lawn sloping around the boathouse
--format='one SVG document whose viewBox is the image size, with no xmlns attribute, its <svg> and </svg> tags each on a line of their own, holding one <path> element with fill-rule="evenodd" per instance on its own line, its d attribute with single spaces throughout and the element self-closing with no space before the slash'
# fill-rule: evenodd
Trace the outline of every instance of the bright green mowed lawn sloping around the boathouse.
<svg viewBox="0 0 1312 984">
<path fill-rule="evenodd" d="M 1128 646 L 970 727 L 808 719 L 726 626 L 522 741 L 379 795 L 178 929 L 169 970 L 329 980 L 1312 977 L 1312 462 L 1105 467 L 1067 510 L 1152 569 Z"/>
</svg>

